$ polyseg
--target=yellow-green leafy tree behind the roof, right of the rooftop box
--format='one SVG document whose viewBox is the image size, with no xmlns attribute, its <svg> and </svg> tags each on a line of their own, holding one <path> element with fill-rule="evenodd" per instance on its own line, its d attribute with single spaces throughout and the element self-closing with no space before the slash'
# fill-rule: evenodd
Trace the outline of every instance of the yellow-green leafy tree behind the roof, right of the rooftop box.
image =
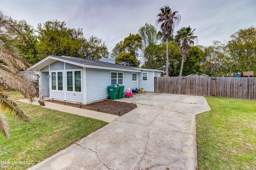
<svg viewBox="0 0 256 170">
<path fill-rule="evenodd" d="M 140 61 L 138 60 L 138 51 L 141 48 L 142 38 L 139 34 L 131 34 L 126 37 L 123 44 L 120 46 L 120 55 L 116 57 L 116 63 L 127 66 L 138 67 Z"/>
</svg>

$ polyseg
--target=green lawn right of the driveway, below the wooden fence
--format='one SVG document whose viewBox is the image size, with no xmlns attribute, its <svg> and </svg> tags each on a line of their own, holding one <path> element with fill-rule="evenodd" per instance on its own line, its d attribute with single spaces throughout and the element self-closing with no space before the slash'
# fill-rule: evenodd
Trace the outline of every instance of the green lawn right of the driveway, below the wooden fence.
<svg viewBox="0 0 256 170">
<path fill-rule="evenodd" d="M 206 97 L 210 111 L 196 115 L 202 170 L 256 169 L 256 101 Z"/>
</svg>

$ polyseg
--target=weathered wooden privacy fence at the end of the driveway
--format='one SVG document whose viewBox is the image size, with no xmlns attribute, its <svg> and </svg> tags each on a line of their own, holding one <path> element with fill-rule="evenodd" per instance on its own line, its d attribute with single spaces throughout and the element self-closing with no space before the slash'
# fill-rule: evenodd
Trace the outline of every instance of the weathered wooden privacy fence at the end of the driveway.
<svg viewBox="0 0 256 170">
<path fill-rule="evenodd" d="M 256 78 L 154 77 L 154 92 L 256 100 Z"/>
</svg>

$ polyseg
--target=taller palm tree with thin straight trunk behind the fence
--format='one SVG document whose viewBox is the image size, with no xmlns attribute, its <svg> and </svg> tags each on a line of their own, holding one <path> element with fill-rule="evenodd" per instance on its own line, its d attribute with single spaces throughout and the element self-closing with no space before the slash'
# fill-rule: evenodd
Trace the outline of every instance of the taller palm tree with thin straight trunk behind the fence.
<svg viewBox="0 0 256 170">
<path fill-rule="evenodd" d="M 156 16 L 157 24 L 160 24 L 160 28 L 166 38 L 166 76 L 169 76 L 169 59 L 168 59 L 168 39 L 176 27 L 180 23 L 180 14 L 178 11 L 171 11 L 171 8 L 167 5 L 160 8 L 160 13 Z"/>
</svg>

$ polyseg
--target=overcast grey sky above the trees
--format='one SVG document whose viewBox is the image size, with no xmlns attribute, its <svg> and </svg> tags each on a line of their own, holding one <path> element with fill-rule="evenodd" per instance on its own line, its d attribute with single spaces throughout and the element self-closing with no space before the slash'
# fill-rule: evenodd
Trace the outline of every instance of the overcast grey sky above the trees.
<svg viewBox="0 0 256 170">
<path fill-rule="evenodd" d="M 35 29 L 49 20 L 65 21 L 105 41 L 108 51 L 145 23 L 156 24 L 160 7 L 169 5 L 181 15 L 181 27 L 196 28 L 198 45 L 228 41 L 239 29 L 256 26 L 256 0 L 1 0 L 0 10 Z M 159 30 L 159 27 L 158 27 Z"/>
</svg>

